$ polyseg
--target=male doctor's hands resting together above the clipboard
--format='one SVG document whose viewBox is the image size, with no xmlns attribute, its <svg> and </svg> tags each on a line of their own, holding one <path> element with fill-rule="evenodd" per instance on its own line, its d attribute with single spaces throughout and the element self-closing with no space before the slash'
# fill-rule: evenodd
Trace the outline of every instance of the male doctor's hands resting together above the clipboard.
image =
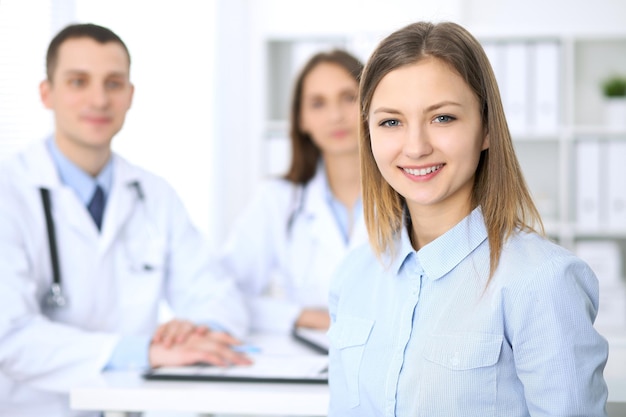
<svg viewBox="0 0 626 417">
<path fill-rule="evenodd" d="M 150 345 L 150 366 L 183 366 L 209 363 L 217 366 L 250 365 L 252 361 L 233 350 L 241 342 L 224 332 L 207 330 L 204 334 L 188 333 L 184 342 L 166 347 L 162 343 Z"/>
</svg>

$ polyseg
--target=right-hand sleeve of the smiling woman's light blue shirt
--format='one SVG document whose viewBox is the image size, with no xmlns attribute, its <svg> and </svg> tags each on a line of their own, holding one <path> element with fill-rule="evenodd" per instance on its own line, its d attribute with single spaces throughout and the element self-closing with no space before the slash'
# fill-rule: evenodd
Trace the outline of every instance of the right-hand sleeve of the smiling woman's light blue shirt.
<svg viewBox="0 0 626 417">
<path fill-rule="evenodd" d="M 508 335 L 532 416 L 605 416 L 608 344 L 593 327 L 598 282 L 574 256 L 541 265 L 508 303 Z"/>
</svg>

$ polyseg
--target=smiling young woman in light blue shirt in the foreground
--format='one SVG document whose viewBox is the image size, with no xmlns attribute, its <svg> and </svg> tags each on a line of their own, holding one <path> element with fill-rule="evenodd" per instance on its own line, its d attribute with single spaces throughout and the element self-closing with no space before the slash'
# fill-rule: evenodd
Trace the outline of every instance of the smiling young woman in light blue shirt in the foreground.
<svg viewBox="0 0 626 417">
<path fill-rule="evenodd" d="M 370 245 L 331 282 L 329 416 L 605 416 L 597 279 L 543 236 L 478 41 L 398 30 L 360 105 Z"/>
</svg>

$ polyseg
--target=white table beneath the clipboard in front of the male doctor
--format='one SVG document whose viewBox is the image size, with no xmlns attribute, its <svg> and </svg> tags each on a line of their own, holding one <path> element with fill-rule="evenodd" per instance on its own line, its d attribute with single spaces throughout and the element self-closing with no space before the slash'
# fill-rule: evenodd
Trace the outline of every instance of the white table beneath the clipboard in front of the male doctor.
<svg viewBox="0 0 626 417">
<path fill-rule="evenodd" d="M 234 382 L 144 381 L 133 373 L 104 375 L 105 385 L 72 390 L 73 409 L 325 416 L 328 386 Z"/>
</svg>

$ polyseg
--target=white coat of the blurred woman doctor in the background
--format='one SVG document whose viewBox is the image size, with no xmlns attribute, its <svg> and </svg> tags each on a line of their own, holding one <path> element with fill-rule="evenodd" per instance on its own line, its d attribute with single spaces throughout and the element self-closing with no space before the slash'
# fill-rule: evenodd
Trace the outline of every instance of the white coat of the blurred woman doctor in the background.
<svg viewBox="0 0 626 417">
<path fill-rule="evenodd" d="M 328 308 L 335 267 L 367 242 L 360 212 L 346 242 L 328 193 L 322 165 L 305 186 L 268 180 L 235 223 L 220 263 L 246 297 L 252 330 L 287 333 L 303 308 Z"/>
</svg>

